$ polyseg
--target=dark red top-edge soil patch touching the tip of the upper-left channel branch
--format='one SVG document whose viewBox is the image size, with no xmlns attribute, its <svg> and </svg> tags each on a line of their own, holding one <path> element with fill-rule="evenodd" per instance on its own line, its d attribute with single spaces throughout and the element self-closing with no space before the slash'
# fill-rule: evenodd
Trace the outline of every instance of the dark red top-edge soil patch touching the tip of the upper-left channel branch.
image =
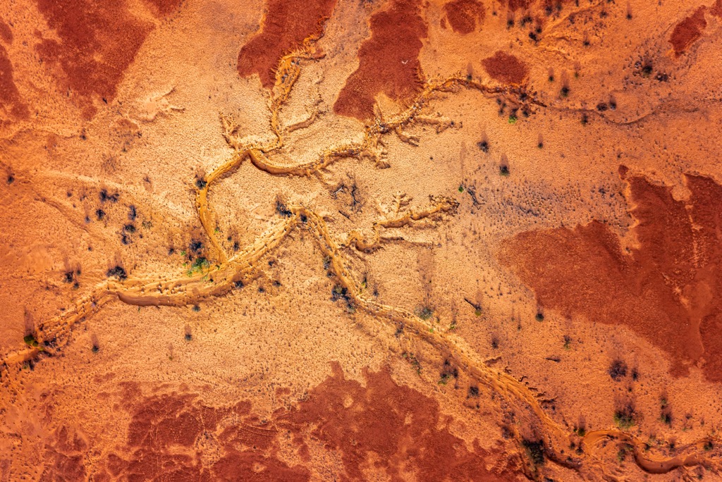
<svg viewBox="0 0 722 482">
<path fill-rule="evenodd" d="M 258 74 L 261 85 L 273 87 L 279 59 L 308 37 L 323 33 L 336 0 L 271 0 L 260 32 L 238 53 L 238 74 Z"/>
</svg>

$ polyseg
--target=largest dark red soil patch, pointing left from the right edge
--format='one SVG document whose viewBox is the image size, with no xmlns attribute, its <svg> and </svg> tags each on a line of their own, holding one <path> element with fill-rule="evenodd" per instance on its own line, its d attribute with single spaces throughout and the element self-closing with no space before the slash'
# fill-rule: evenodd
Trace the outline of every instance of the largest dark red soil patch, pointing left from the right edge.
<svg viewBox="0 0 722 482">
<path fill-rule="evenodd" d="M 622 177 L 625 168 L 621 168 Z M 677 201 L 671 188 L 628 178 L 630 214 L 639 242 L 629 254 L 601 222 L 573 229 L 523 232 L 500 259 L 513 266 L 544 308 L 593 322 L 624 324 L 664 349 L 672 373 L 690 362 L 722 381 L 722 187 L 686 175 L 692 193 Z"/>
</svg>

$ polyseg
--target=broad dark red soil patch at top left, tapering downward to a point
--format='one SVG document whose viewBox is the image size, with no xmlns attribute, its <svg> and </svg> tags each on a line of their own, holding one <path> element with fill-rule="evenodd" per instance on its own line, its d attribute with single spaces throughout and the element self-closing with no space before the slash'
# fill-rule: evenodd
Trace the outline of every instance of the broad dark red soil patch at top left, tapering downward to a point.
<svg viewBox="0 0 722 482">
<path fill-rule="evenodd" d="M 93 97 L 113 99 L 152 27 L 132 17 L 123 2 L 38 0 L 38 9 L 60 38 L 43 39 L 36 46 L 38 55 L 49 66 L 59 66 L 58 84 L 79 95 L 84 118 L 92 118 Z"/>
</svg>

